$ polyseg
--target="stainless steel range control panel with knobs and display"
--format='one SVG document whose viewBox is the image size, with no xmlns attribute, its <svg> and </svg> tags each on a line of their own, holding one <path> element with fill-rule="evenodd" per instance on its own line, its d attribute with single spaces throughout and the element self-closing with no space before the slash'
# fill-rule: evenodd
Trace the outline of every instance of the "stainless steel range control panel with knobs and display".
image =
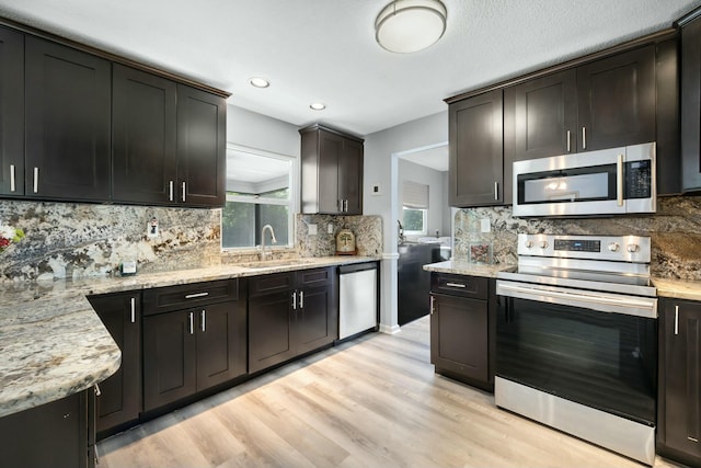
<svg viewBox="0 0 701 468">
<path fill-rule="evenodd" d="M 646 236 L 518 235 L 518 254 L 650 263 Z"/>
</svg>

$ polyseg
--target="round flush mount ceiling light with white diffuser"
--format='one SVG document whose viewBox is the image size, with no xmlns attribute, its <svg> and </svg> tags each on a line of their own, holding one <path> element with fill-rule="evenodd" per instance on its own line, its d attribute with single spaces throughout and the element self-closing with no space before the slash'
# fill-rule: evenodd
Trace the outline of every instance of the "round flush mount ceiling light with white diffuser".
<svg viewBox="0 0 701 468">
<path fill-rule="evenodd" d="M 447 13 L 439 0 L 394 0 L 377 15 L 375 38 L 397 54 L 423 50 L 446 32 Z"/>
</svg>

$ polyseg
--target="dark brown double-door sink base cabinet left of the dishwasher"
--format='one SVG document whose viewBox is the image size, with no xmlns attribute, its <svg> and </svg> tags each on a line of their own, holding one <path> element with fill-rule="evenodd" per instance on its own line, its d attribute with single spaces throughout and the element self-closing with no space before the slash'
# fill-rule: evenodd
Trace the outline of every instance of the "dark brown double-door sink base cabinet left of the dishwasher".
<svg viewBox="0 0 701 468">
<path fill-rule="evenodd" d="M 333 343 L 338 336 L 334 269 L 256 276 L 249 288 L 249 372 Z"/>
</svg>

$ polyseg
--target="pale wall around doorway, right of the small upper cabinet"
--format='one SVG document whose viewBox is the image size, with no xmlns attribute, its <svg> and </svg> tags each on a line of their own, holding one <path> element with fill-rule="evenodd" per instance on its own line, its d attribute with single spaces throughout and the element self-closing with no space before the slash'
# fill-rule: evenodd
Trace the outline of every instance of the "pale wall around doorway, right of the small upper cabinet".
<svg viewBox="0 0 701 468">
<path fill-rule="evenodd" d="M 382 217 L 384 255 L 381 272 L 380 330 L 394 332 L 397 324 L 397 216 L 392 207 L 391 175 L 400 153 L 448 141 L 448 111 L 407 122 L 375 134 L 365 139 L 364 206 L 366 215 Z M 372 194 L 372 185 L 379 184 L 380 195 Z M 394 199 L 397 204 L 397 199 Z"/>
</svg>

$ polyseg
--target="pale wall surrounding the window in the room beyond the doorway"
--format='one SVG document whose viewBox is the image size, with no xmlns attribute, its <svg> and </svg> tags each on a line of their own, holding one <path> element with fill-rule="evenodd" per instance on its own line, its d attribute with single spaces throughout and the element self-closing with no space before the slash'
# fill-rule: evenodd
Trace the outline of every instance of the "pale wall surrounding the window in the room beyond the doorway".
<svg viewBox="0 0 701 468">
<path fill-rule="evenodd" d="M 402 219 L 402 185 L 404 181 L 417 182 L 428 185 L 428 219 L 427 233 L 425 236 L 435 236 L 436 230 L 440 236 L 450 236 L 450 228 L 444 230 L 444 205 L 448 202 L 444 201 L 444 173 L 425 165 L 416 164 L 403 159 L 399 160 L 399 178 L 397 184 L 397 196 L 399 205 L 397 207 L 397 219 Z M 397 222 L 397 221 L 395 221 Z M 410 240 L 421 236 L 407 237 Z"/>
</svg>

